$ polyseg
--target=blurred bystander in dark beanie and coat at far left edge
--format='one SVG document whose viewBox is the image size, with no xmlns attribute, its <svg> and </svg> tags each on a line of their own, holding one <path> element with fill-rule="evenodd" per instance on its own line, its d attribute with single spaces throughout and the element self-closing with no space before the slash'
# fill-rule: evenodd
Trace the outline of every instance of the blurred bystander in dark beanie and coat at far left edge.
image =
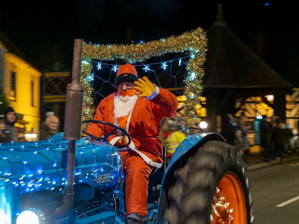
<svg viewBox="0 0 299 224">
<path fill-rule="evenodd" d="M 12 107 L 7 107 L 4 112 L 4 129 L 0 134 L 0 143 L 18 142 L 18 129 L 15 127 L 16 113 Z"/>
</svg>

